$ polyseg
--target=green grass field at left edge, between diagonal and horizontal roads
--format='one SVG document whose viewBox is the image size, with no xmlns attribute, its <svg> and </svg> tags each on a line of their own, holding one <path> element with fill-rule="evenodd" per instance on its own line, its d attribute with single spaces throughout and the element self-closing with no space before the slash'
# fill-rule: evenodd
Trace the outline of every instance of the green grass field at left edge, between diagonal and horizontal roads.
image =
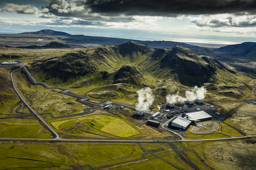
<svg viewBox="0 0 256 170">
<path fill-rule="evenodd" d="M 34 117 L 0 119 L 0 134 L 2 138 L 52 138 Z"/>
</svg>

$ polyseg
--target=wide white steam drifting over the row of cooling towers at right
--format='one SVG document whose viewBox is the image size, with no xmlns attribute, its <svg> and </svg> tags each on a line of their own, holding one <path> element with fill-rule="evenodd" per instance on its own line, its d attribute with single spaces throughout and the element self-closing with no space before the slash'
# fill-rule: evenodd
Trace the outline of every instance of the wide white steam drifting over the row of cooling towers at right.
<svg viewBox="0 0 256 170">
<path fill-rule="evenodd" d="M 175 103 L 176 101 L 184 102 L 186 100 L 193 101 L 195 99 L 203 100 L 204 93 L 206 93 L 206 92 L 207 92 L 207 90 L 204 87 L 199 88 L 199 87 L 195 86 L 192 91 L 185 92 L 186 98 L 180 96 L 179 93 L 173 94 L 173 95 L 169 94 L 166 96 L 166 102 L 167 103 Z"/>
</svg>

